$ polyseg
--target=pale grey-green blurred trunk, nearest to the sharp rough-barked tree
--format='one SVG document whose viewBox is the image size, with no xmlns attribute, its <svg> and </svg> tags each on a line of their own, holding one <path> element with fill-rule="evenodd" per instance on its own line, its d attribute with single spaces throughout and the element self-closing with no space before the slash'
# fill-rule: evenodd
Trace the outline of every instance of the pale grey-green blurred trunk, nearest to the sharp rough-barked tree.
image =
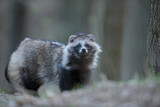
<svg viewBox="0 0 160 107">
<path fill-rule="evenodd" d="M 146 64 L 147 13 L 146 0 L 127 0 L 125 4 L 121 79 L 143 78 Z"/>
</svg>

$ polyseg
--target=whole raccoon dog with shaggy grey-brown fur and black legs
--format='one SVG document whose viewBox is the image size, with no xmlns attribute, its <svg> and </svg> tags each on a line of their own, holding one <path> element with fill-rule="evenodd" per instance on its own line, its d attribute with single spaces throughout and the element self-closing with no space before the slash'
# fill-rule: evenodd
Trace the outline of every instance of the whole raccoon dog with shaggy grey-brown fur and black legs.
<svg viewBox="0 0 160 107">
<path fill-rule="evenodd" d="M 37 91 L 51 83 L 61 91 L 89 82 L 97 66 L 100 46 L 92 34 L 71 35 L 67 45 L 26 38 L 11 55 L 5 76 L 20 91 Z"/>
</svg>

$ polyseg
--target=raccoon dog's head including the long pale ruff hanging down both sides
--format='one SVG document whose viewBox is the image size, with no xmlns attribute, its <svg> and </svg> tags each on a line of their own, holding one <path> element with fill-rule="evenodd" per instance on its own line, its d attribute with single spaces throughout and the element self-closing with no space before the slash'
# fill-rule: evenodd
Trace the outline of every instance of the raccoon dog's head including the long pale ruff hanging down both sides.
<svg viewBox="0 0 160 107">
<path fill-rule="evenodd" d="M 62 66 L 73 68 L 74 64 L 85 64 L 90 69 L 96 68 L 100 46 L 95 42 L 92 34 L 79 33 L 69 37 L 68 44 L 63 50 Z M 77 66 L 76 66 L 77 67 Z"/>
</svg>

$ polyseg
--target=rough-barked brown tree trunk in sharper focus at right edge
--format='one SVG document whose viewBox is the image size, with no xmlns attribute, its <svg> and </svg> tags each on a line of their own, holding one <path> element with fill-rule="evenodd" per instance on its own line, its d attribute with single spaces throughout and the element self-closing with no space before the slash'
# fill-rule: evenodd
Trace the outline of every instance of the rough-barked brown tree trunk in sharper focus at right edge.
<svg viewBox="0 0 160 107">
<path fill-rule="evenodd" d="M 152 72 L 160 72 L 160 3 L 150 0 L 150 22 L 148 32 L 148 60 Z"/>
</svg>

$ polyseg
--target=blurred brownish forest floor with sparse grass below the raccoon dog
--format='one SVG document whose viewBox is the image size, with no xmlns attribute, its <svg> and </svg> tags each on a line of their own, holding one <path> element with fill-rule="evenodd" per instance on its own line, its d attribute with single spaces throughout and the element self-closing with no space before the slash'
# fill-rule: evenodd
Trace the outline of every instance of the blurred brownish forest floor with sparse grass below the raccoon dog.
<svg viewBox="0 0 160 107">
<path fill-rule="evenodd" d="M 0 107 L 160 107 L 160 81 L 101 82 L 45 97 L 0 94 Z"/>
</svg>

